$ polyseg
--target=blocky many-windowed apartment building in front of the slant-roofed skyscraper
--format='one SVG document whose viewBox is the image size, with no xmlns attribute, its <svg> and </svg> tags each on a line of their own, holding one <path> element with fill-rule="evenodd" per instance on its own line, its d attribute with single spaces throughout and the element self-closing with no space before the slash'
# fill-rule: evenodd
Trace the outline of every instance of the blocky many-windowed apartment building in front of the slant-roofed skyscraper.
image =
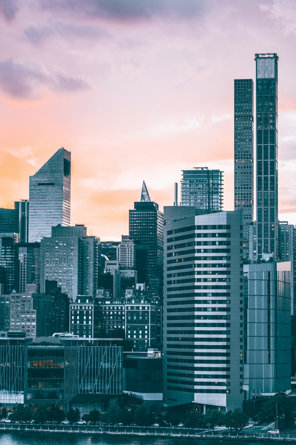
<svg viewBox="0 0 296 445">
<path fill-rule="evenodd" d="M 40 290 L 45 280 L 55 280 L 73 301 L 77 295 L 95 295 L 98 287 L 99 238 L 87 236 L 83 224 L 52 227 L 41 240 Z"/>
</svg>

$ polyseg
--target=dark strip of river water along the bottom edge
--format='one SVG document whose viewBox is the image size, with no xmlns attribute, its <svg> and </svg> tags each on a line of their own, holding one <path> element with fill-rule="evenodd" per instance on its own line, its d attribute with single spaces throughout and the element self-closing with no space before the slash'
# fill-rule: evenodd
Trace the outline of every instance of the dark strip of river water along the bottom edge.
<svg viewBox="0 0 296 445">
<path fill-rule="evenodd" d="M 1 445 L 221 445 L 221 441 L 203 441 L 193 439 L 159 439 L 152 437 L 95 437 L 76 434 L 39 434 L 39 433 L 0 433 Z M 225 443 L 225 441 L 223 441 Z M 232 445 L 241 445 L 241 441 L 231 441 Z M 258 445 L 249 442 L 248 445 Z"/>
</svg>

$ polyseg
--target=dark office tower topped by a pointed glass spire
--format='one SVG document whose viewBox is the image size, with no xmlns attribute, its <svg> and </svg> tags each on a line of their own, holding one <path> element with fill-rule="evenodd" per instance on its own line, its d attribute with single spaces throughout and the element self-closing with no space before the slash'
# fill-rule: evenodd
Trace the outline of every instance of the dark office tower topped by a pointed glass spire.
<svg viewBox="0 0 296 445">
<path fill-rule="evenodd" d="M 130 210 L 129 235 L 135 244 L 135 269 L 138 271 L 138 283 L 149 285 L 149 279 L 156 275 L 162 287 L 163 213 L 158 210 L 156 202 L 150 202 L 148 192 L 143 196 L 143 190 L 141 201 L 135 202 L 134 210 Z"/>
</svg>

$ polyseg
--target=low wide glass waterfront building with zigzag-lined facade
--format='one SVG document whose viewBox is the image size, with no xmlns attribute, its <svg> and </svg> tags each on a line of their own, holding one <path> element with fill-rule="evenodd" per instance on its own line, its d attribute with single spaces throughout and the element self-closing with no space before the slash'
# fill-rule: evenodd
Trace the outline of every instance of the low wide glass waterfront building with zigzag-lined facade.
<svg viewBox="0 0 296 445">
<path fill-rule="evenodd" d="M 122 393 L 122 340 L 0 338 L 0 403 L 104 411 Z M 9 371 L 9 372 L 8 372 Z"/>
</svg>

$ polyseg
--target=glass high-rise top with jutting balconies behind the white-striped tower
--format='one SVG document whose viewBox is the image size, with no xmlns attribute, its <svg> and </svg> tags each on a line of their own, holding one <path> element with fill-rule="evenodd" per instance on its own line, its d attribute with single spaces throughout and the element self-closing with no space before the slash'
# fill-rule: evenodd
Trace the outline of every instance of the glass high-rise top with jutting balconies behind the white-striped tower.
<svg viewBox="0 0 296 445">
<path fill-rule="evenodd" d="M 182 170 L 180 206 L 194 206 L 200 213 L 217 212 L 223 203 L 223 172 L 195 167 Z"/>
</svg>

